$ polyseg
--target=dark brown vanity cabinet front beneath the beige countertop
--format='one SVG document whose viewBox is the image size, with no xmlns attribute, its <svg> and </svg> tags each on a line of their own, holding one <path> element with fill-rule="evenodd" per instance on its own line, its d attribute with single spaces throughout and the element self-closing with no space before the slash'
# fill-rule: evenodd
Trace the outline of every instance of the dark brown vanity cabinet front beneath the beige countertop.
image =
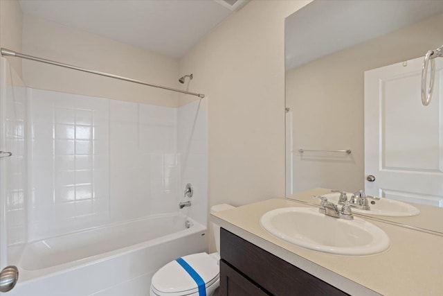
<svg viewBox="0 0 443 296">
<path fill-rule="evenodd" d="M 347 295 L 226 229 L 220 241 L 220 296 Z"/>
</svg>

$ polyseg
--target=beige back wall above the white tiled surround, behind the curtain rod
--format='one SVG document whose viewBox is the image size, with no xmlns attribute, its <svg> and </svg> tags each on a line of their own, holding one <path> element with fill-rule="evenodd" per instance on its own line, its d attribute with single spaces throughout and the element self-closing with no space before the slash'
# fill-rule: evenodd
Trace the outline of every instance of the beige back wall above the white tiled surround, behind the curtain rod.
<svg viewBox="0 0 443 296">
<path fill-rule="evenodd" d="M 156 85 L 179 87 L 176 59 L 28 15 L 23 19 L 23 52 Z M 90 73 L 28 60 L 23 61 L 23 73 L 26 85 L 37 89 L 177 106 L 175 92 Z"/>
</svg>

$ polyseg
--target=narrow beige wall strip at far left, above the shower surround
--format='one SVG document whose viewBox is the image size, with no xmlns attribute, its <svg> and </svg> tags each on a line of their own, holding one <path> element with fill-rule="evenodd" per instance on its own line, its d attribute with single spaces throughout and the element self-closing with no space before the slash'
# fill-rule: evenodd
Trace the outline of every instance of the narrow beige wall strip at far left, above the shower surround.
<svg viewBox="0 0 443 296">
<path fill-rule="evenodd" d="M 21 24 L 23 14 L 19 1 L 0 1 L 0 47 L 21 51 Z M 21 60 L 9 58 L 10 65 L 21 76 Z"/>
</svg>

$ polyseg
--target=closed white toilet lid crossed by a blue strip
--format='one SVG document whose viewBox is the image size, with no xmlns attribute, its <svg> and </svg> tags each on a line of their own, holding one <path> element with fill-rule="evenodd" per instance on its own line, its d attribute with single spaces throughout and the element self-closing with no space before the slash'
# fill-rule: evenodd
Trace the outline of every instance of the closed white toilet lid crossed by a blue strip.
<svg viewBox="0 0 443 296">
<path fill-rule="evenodd" d="M 181 258 L 199 274 L 206 288 L 219 278 L 219 264 L 213 256 L 198 253 Z M 151 283 L 156 294 L 187 295 L 198 291 L 195 280 L 175 260 L 160 268 L 152 277 Z"/>
</svg>

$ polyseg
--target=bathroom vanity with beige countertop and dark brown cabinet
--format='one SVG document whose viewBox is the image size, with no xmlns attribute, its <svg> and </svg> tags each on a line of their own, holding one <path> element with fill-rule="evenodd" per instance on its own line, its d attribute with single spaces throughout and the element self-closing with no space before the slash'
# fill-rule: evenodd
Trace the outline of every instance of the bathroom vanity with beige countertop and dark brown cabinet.
<svg viewBox="0 0 443 296">
<path fill-rule="evenodd" d="M 328 254 L 287 243 L 260 225 L 267 212 L 288 207 L 313 206 L 274 198 L 211 216 L 222 228 L 221 295 L 442 295 L 442 236 L 368 220 L 388 235 L 388 250 Z"/>
</svg>

